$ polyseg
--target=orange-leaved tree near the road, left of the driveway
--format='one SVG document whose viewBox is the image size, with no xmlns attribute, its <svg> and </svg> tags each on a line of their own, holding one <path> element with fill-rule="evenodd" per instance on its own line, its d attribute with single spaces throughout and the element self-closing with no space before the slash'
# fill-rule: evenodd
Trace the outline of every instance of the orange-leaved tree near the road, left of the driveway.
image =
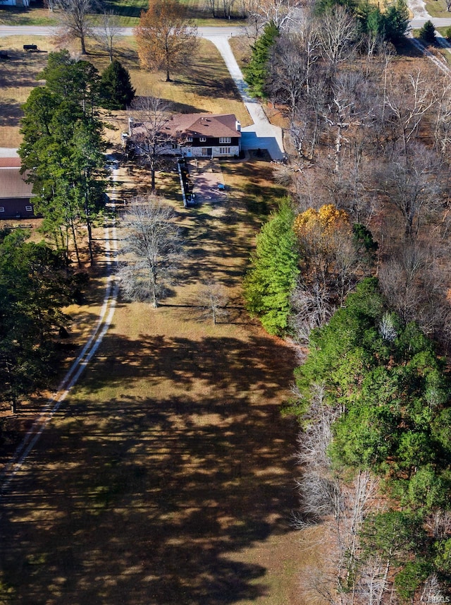
<svg viewBox="0 0 451 605">
<path fill-rule="evenodd" d="M 187 18 L 178 0 L 150 0 L 149 10 L 141 13 L 135 28 L 138 56 L 142 67 L 171 73 L 186 67 L 197 49 L 197 28 Z"/>
</svg>

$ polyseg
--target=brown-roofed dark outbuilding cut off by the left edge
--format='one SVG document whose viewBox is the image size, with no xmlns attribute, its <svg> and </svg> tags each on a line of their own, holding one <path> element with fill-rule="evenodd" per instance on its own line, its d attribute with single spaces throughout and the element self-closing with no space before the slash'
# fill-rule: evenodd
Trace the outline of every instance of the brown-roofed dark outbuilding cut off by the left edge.
<svg viewBox="0 0 451 605">
<path fill-rule="evenodd" d="M 35 216 L 32 184 L 20 174 L 20 157 L 0 157 L 0 220 Z"/>
</svg>

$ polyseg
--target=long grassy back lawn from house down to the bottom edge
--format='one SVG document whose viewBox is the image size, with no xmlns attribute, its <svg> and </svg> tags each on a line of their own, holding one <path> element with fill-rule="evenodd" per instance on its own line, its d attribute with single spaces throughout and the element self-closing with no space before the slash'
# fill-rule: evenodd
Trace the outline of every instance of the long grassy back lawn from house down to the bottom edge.
<svg viewBox="0 0 451 605">
<path fill-rule="evenodd" d="M 282 192 L 266 162 L 224 162 L 223 174 L 221 205 L 175 204 L 190 252 L 178 285 L 156 310 L 120 301 L 2 501 L 11 603 L 304 605 L 299 567 L 316 560 L 290 527 L 296 427 L 279 413 L 295 352 L 240 299 Z M 210 277 L 230 299 L 218 325 L 194 303 Z"/>
</svg>

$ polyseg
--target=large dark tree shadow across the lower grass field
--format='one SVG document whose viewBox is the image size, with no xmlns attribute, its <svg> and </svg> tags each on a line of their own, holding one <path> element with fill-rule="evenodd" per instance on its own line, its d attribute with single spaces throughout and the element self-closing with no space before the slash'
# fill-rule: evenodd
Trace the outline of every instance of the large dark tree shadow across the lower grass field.
<svg viewBox="0 0 451 605">
<path fill-rule="evenodd" d="M 291 531 L 294 427 L 276 400 L 292 364 L 258 334 L 107 336 L 2 501 L 14 602 L 221 605 L 268 594 L 268 569 L 240 552 Z"/>
</svg>

